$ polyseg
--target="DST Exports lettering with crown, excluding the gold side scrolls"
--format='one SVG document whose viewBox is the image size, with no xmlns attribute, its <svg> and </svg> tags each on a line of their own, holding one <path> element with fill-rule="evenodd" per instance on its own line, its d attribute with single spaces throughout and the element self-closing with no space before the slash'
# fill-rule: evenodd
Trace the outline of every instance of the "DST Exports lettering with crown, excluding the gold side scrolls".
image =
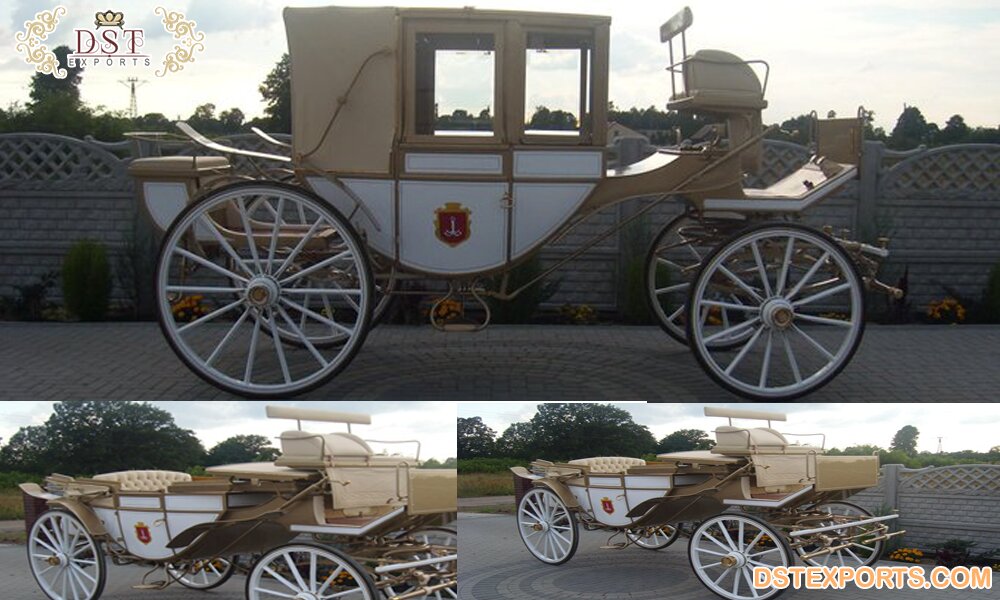
<svg viewBox="0 0 1000 600">
<path fill-rule="evenodd" d="M 94 26 L 93 30 L 73 30 L 76 32 L 76 52 L 66 57 L 69 66 L 150 66 L 152 57 L 138 53 L 146 43 L 146 33 L 142 28 L 125 29 L 125 13 L 111 10 L 97 13 Z"/>
</svg>

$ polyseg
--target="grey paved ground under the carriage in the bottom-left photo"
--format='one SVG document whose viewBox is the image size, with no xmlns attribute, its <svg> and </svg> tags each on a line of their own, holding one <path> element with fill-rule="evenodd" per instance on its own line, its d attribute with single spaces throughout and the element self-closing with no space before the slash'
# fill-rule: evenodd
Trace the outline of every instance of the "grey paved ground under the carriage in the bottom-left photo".
<svg viewBox="0 0 1000 600">
<path fill-rule="evenodd" d="M 214 590 L 197 592 L 173 585 L 165 590 L 134 590 L 148 569 L 118 567 L 108 563 L 107 585 L 101 600 L 243 600 L 246 578 L 234 575 Z M 152 579 L 155 579 L 153 577 Z M 0 598 L 47 600 L 28 571 L 24 546 L 0 544 Z"/>
</svg>

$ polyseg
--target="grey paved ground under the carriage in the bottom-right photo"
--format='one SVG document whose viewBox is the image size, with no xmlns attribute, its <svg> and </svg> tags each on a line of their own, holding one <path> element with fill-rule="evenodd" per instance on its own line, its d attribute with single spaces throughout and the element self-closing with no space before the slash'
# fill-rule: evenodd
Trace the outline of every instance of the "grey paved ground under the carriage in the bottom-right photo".
<svg viewBox="0 0 1000 600">
<path fill-rule="evenodd" d="M 576 555 L 560 566 L 535 560 L 525 550 L 510 515 L 460 513 L 458 596 L 462 600 L 706 600 L 715 598 L 688 564 L 684 539 L 652 552 L 602 550 L 608 534 L 581 530 Z M 980 591 L 789 590 L 782 600 L 986 600 Z"/>
</svg>

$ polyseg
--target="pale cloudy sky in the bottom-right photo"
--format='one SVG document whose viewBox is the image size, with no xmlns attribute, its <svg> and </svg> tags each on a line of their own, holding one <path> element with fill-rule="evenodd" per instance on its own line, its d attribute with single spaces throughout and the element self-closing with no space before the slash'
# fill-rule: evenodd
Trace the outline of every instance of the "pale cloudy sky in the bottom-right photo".
<svg viewBox="0 0 1000 600">
<path fill-rule="evenodd" d="M 702 404 L 616 404 L 632 413 L 636 423 L 646 425 L 656 439 L 680 429 L 711 432 L 726 420 L 704 416 Z M 1000 445 L 1000 404 L 713 404 L 750 410 L 782 412 L 788 421 L 774 428 L 789 433 L 825 433 L 827 448 L 874 444 L 888 448 L 892 436 L 905 425 L 920 431 L 917 449 L 936 452 L 938 437 L 945 452 L 987 452 Z M 497 435 L 511 423 L 527 421 L 535 414 L 534 402 L 461 403 L 459 417 L 482 417 Z M 754 426 L 759 421 L 736 421 Z M 803 443 L 818 438 L 804 438 Z M 817 443 L 815 441 L 811 443 Z M 544 458 L 544 457 L 540 457 Z"/>
</svg>

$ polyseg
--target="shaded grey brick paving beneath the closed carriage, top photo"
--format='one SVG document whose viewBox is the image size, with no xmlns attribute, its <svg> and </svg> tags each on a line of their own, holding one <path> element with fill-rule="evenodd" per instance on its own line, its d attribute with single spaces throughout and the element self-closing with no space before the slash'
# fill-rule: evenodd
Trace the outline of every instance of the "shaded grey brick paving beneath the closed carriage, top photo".
<svg viewBox="0 0 1000 600">
<path fill-rule="evenodd" d="M 0 398 L 227 398 L 153 323 L 0 323 Z M 992 401 L 1000 326 L 868 328 L 812 401 Z M 310 397 L 352 400 L 736 399 L 656 327 L 494 326 L 475 334 L 381 326 Z"/>
</svg>

